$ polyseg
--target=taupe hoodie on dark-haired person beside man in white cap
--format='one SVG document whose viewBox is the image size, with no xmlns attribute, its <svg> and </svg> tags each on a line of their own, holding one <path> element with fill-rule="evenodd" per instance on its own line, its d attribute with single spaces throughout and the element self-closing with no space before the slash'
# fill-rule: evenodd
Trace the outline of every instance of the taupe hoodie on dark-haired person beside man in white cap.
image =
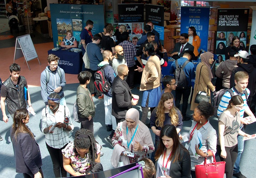
<svg viewBox="0 0 256 178">
<path fill-rule="evenodd" d="M 215 75 L 219 78 L 223 78 L 222 86 L 225 88 L 230 88 L 230 76 L 233 68 L 237 67 L 237 61 L 225 60 L 217 68 Z"/>
</svg>

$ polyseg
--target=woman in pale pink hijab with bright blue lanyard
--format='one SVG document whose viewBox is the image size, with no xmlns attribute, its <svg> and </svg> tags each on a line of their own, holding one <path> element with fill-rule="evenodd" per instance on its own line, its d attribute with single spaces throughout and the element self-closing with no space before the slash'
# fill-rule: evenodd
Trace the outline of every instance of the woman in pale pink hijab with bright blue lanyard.
<svg viewBox="0 0 256 178">
<path fill-rule="evenodd" d="M 127 111 L 125 121 L 118 123 L 112 144 L 114 150 L 111 164 L 116 168 L 121 156 L 123 165 L 137 162 L 154 151 L 154 144 L 149 128 L 139 121 L 139 111 L 131 108 Z M 129 156 L 126 156 L 127 153 Z"/>
</svg>

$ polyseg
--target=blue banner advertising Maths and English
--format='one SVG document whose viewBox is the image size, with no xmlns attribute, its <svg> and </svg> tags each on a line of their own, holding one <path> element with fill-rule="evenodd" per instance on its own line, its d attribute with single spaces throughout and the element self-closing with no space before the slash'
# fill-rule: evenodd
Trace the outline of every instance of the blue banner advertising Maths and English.
<svg viewBox="0 0 256 178">
<path fill-rule="evenodd" d="M 207 51 L 210 7 L 181 6 L 181 33 L 188 33 L 189 27 L 196 28 L 201 40 L 198 52 Z"/>
</svg>

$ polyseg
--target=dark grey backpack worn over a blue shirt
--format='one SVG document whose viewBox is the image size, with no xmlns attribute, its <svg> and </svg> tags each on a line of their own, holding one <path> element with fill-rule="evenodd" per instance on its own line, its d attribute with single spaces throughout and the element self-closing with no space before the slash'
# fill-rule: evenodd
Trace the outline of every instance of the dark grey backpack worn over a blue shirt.
<svg viewBox="0 0 256 178">
<path fill-rule="evenodd" d="M 174 72 L 174 78 L 175 81 L 177 83 L 177 87 L 176 89 L 186 89 L 187 88 L 187 77 L 186 74 L 184 72 L 184 67 L 187 65 L 187 63 L 190 62 L 188 60 L 186 60 L 183 65 L 178 65 L 178 60 L 175 60 L 175 66 L 176 66 L 176 70 Z"/>
</svg>

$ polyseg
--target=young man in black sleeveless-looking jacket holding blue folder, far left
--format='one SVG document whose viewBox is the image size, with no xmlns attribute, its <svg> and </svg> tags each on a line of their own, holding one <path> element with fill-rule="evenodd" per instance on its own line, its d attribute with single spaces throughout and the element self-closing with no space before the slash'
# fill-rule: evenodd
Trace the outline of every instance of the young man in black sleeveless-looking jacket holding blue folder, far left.
<svg viewBox="0 0 256 178">
<path fill-rule="evenodd" d="M 30 101 L 30 94 L 27 90 L 27 80 L 25 79 L 25 77 L 20 76 L 20 65 L 13 63 L 10 66 L 10 74 L 11 76 L 7 80 L 5 80 L 1 87 L 1 110 L 3 115 L 3 121 L 5 123 L 8 122 L 8 117 L 5 113 L 5 100 L 8 112 L 10 113 L 12 118 L 14 117 L 14 112 L 17 109 L 26 109 L 26 100 L 28 102 L 30 112 L 34 112 Z"/>
</svg>

